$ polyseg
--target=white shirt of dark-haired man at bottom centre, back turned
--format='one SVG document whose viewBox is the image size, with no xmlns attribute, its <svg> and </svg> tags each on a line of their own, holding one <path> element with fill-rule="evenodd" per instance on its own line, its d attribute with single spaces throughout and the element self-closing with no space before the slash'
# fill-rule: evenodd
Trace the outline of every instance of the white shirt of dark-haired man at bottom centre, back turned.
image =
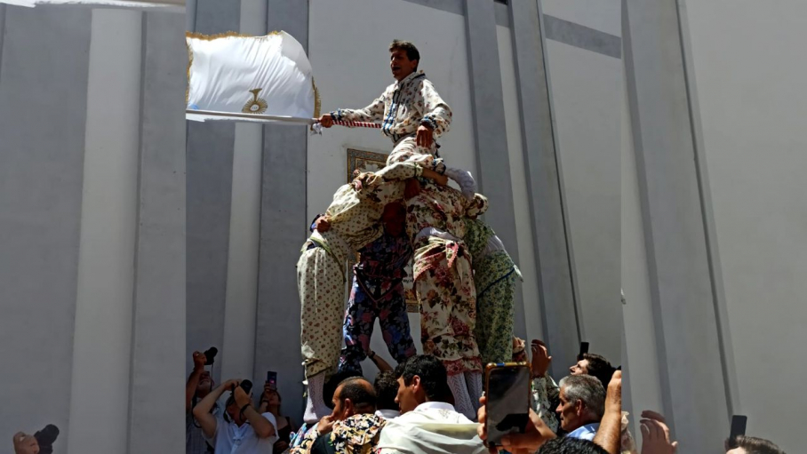
<svg viewBox="0 0 807 454">
<path fill-rule="evenodd" d="M 446 402 L 426 402 L 381 430 L 379 454 L 486 454 L 475 422 Z"/>
</svg>

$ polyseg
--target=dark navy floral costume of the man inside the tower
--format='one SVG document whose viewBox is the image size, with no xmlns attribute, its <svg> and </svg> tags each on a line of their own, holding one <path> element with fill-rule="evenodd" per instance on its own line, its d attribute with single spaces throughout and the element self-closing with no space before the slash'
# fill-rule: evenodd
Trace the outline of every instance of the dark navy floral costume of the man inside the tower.
<svg viewBox="0 0 807 454">
<path fill-rule="evenodd" d="M 361 374 L 361 362 L 370 349 L 376 318 L 389 354 L 396 362 L 404 362 L 417 352 L 404 299 L 404 267 L 412 255 L 409 237 L 385 233 L 359 253 L 361 260 L 354 269 L 353 289 L 343 326 L 345 348 L 339 369 Z"/>
</svg>

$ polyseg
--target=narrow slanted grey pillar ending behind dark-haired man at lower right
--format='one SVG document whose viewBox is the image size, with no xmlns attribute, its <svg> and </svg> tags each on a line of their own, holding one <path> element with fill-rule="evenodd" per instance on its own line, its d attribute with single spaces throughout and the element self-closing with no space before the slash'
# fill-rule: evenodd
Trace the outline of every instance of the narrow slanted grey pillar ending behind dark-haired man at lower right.
<svg viewBox="0 0 807 454">
<path fill-rule="evenodd" d="M 531 204 L 532 235 L 539 263 L 541 321 L 555 361 L 551 373 L 565 375 L 565 364 L 579 351 L 579 316 L 575 298 L 571 248 L 563 211 L 558 156 L 555 149 L 552 106 L 547 84 L 544 38 L 539 5 L 511 2 L 510 24 L 515 50 L 516 80 L 522 118 L 524 171 Z M 531 277 L 531 276 L 530 276 Z"/>
</svg>

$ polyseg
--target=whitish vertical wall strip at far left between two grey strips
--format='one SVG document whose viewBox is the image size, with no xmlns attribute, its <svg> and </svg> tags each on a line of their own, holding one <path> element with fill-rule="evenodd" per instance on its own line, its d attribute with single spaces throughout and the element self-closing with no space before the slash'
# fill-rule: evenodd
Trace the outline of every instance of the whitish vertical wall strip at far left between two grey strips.
<svg viewBox="0 0 807 454">
<path fill-rule="evenodd" d="M 69 453 L 127 450 L 141 17 L 92 12 Z"/>
</svg>

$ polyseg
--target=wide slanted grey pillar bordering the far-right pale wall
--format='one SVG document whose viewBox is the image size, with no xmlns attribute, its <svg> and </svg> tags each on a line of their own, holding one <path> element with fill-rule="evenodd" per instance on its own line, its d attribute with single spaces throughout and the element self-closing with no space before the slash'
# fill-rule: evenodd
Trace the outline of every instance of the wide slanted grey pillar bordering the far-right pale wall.
<svg viewBox="0 0 807 454">
<path fill-rule="evenodd" d="M 678 5 L 626 5 L 627 94 L 663 413 L 680 450 L 719 449 L 729 431 L 726 374 L 733 371 L 723 367 Z"/>
</svg>

